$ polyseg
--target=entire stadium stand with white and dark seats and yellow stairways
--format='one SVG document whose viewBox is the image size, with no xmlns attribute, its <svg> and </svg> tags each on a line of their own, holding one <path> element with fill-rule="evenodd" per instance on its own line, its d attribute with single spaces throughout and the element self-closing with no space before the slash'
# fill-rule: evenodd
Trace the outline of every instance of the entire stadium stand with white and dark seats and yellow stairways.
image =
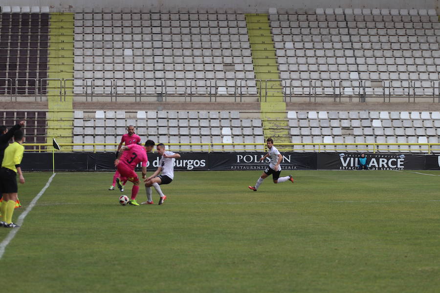
<svg viewBox="0 0 440 293">
<path fill-rule="evenodd" d="M 269 14 L 244 14 L 220 8 L 81 8 L 67 18 L 43 7 L 4 6 L 0 20 L 0 94 L 42 94 L 49 101 L 47 112 L 0 114 L 9 126 L 26 118 L 28 143 L 45 142 L 42 136 L 118 143 L 130 124 L 143 140 L 188 144 L 179 148 L 191 151 L 255 150 L 258 146 L 190 144 L 264 144 L 265 136 L 277 135 L 278 142 L 311 144 L 295 145 L 300 152 L 371 148 L 313 145 L 319 143 L 439 143 L 435 109 L 286 111 L 285 103 L 292 96 L 438 102 L 440 22 L 433 9 L 271 8 Z M 259 29 L 264 33 L 255 35 Z M 52 78 L 68 80 L 65 90 L 71 93 L 63 93 L 58 81 L 48 83 Z M 274 92 L 279 81 L 283 92 Z M 267 85 L 271 88 L 260 88 Z M 145 95 L 159 101 L 162 94 L 263 94 L 261 102 L 269 103 L 252 117 L 233 105 L 158 111 L 122 105 L 118 111 L 96 111 L 75 110 L 72 104 L 83 95 L 133 101 Z M 112 151 L 114 146 L 97 148 Z M 416 145 L 385 145 L 378 151 L 426 152 Z"/>
</svg>

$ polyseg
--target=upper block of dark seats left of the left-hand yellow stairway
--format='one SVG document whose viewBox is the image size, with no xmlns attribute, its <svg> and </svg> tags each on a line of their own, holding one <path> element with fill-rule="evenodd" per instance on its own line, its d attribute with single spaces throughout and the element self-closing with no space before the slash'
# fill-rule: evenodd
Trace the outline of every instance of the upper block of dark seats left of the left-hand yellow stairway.
<svg viewBox="0 0 440 293">
<path fill-rule="evenodd" d="M 0 94 L 36 94 L 46 88 L 49 14 L 23 10 L 7 13 L 3 7 L 0 14 Z"/>
</svg>

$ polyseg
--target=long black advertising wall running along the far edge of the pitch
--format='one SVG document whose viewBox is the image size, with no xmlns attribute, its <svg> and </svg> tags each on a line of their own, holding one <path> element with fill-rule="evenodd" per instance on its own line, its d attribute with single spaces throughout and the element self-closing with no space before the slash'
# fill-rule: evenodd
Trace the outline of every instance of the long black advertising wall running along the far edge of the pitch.
<svg viewBox="0 0 440 293">
<path fill-rule="evenodd" d="M 178 171 L 203 170 L 264 170 L 268 162 L 260 163 L 262 152 L 192 152 L 180 153 L 175 160 Z M 283 152 L 283 170 L 354 170 L 359 153 L 293 153 Z M 425 154 L 366 154 L 373 170 L 440 170 L 440 155 Z M 56 171 L 114 170 L 113 153 L 55 153 Z M 51 153 L 25 153 L 24 171 L 51 171 Z M 157 153 L 148 155 L 149 172 L 159 166 Z M 140 168 L 138 168 L 140 170 Z"/>
</svg>

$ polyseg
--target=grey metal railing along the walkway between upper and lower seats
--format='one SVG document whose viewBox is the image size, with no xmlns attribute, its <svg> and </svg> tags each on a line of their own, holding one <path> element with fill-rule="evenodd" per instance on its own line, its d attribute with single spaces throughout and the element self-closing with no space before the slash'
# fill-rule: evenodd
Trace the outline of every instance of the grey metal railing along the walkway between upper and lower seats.
<svg viewBox="0 0 440 293">
<path fill-rule="evenodd" d="M 426 82 L 422 81 L 400 81 L 399 86 L 396 86 L 391 81 L 382 80 L 352 80 L 347 81 L 352 85 L 346 87 L 342 85 L 341 81 L 332 80 L 196 80 L 196 79 L 129 79 L 132 86 L 122 86 L 120 84 L 127 79 L 32 79 L 35 81 L 33 85 L 23 87 L 19 81 L 21 79 L 0 79 L 0 95 L 10 97 L 11 101 L 17 96 L 34 96 L 37 102 L 47 93 L 52 95 L 59 94 L 60 100 L 65 100 L 66 95 L 85 96 L 86 102 L 88 99 L 93 101 L 93 97 L 107 96 L 110 98 L 109 102 L 117 101 L 118 97 L 132 96 L 133 102 L 141 102 L 143 97 L 160 96 L 157 98 L 158 102 L 167 102 L 168 96 L 183 96 L 183 102 L 191 102 L 193 96 L 202 95 L 209 97 L 209 102 L 217 102 L 217 98 L 221 96 L 234 97 L 234 102 L 242 102 L 243 96 L 258 97 L 259 101 L 265 101 L 268 96 L 278 93 L 283 95 L 285 102 L 292 102 L 295 97 L 308 97 L 309 102 L 316 102 L 316 97 L 333 98 L 336 102 L 341 97 L 358 98 L 359 102 L 365 102 L 366 98 L 383 98 L 383 102 L 391 102 L 393 98 L 405 97 L 408 102 L 417 102 L 432 99 L 433 103 L 440 103 L 440 82 L 428 81 L 429 86 L 424 85 Z M 56 87 L 43 86 L 49 81 L 59 83 Z M 66 81 L 81 82 L 82 85 L 68 86 Z M 103 81 L 104 86 L 97 86 L 97 81 Z M 170 87 L 178 88 L 176 82 L 183 82 L 183 90 L 170 90 Z M 251 81 L 255 85 L 245 85 L 246 82 Z M 148 85 L 150 82 L 151 85 Z M 197 84 L 202 82 L 203 86 Z M 221 83 L 220 83 L 221 82 Z M 403 83 L 405 82 L 405 83 Z M 295 86 L 295 83 L 301 84 L 300 87 Z M 331 84 L 324 86 L 324 84 Z M 353 84 L 354 83 L 354 84 Z M 304 87 L 303 84 L 308 84 Z M 170 86 L 168 86 L 170 85 Z M 100 91 L 97 88 L 108 88 Z M 225 90 L 219 91 L 220 87 Z M 248 88 L 255 88 L 255 92 L 249 92 Z M 202 88 L 202 89 L 198 89 Z M 351 90 L 347 91 L 347 88 Z M 79 90 L 78 90 L 79 89 Z M 27 93 L 27 94 L 26 94 Z M 187 101 L 189 98 L 189 101 Z M 400 101 L 401 102 L 401 101 Z"/>
</svg>

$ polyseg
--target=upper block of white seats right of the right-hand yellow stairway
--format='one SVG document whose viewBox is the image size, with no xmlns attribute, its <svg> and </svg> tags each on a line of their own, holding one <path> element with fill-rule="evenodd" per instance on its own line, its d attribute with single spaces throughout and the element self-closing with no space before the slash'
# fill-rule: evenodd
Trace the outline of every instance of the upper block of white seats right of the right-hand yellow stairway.
<svg viewBox="0 0 440 293">
<path fill-rule="evenodd" d="M 434 9 L 278 9 L 270 15 L 285 93 L 438 95 Z"/>
</svg>

